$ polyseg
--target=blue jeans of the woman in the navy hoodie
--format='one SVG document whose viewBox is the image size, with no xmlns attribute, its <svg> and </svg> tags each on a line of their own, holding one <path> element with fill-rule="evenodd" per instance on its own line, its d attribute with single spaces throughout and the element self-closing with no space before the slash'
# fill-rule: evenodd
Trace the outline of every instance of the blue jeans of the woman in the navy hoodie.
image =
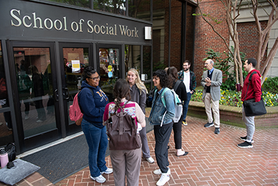
<svg viewBox="0 0 278 186">
<path fill-rule="evenodd" d="M 108 146 L 106 127 L 95 127 L 95 125 L 84 119 L 81 126 L 89 146 L 90 174 L 92 177 L 97 177 L 100 172 L 104 172 L 107 169 L 105 161 L 105 153 Z"/>
</svg>

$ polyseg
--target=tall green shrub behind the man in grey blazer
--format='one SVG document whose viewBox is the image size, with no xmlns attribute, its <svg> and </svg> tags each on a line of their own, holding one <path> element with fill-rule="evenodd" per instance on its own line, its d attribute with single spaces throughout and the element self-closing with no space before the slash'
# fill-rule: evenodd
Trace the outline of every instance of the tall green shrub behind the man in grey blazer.
<svg viewBox="0 0 278 186">
<path fill-rule="evenodd" d="M 206 50 L 206 58 L 203 59 L 203 61 L 206 61 L 207 59 L 213 59 L 215 61 L 214 67 L 221 70 L 223 73 L 223 77 L 226 77 L 226 81 L 222 83 L 220 86 L 222 90 L 236 90 L 236 72 L 235 70 L 231 70 L 231 68 L 234 68 L 234 47 L 231 46 L 231 52 L 233 53 L 227 53 L 223 52 L 221 54 L 220 52 L 214 52 L 213 49 Z M 226 58 L 223 58 L 226 57 Z M 240 52 L 240 59 L 241 61 L 245 61 L 245 54 L 243 52 Z M 243 67 L 244 63 L 242 64 Z M 246 77 L 247 72 L 243 70 L 243 77 Z"/>
</svg>

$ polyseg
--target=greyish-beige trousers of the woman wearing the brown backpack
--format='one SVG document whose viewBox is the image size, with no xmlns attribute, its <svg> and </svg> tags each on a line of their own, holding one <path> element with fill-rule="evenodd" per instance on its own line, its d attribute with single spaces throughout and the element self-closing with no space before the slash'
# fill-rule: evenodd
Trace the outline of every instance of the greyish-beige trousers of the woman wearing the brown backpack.
<svg viewBox="0 0 278 186">
<path fill-rule="evenodd" d="M 110 150 L 115 186 L 138 186 L 141 148 L 135 150 Z"/>
</svg>

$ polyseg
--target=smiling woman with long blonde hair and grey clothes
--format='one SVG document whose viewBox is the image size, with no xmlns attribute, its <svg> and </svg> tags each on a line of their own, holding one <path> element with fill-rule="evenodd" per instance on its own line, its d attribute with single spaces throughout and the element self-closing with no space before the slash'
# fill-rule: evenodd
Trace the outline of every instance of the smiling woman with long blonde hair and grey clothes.
<svg viewBox="0 0 278 186">
<path fill-rule="evenodd" d="M 129 72 L 127 72 L 126 82 L 129 83 L 129 93 L 131 94 L 131 101 L 137 102 L 141 107 L 144 114 L 145 105 L 146 105 L 146 97 L 147 97 L 147 88 L 142 83 L 139 74 L 136 69 L 131 68 Z M 154 163 L 154 159 L 151 157 L 149 153 L 149 146 L 147 143 L 147 133 L 146 127 L 142 127 L 140 130 L 140 137 L 142 141 L 142 155 L 149 163 Z"/>
</svg>

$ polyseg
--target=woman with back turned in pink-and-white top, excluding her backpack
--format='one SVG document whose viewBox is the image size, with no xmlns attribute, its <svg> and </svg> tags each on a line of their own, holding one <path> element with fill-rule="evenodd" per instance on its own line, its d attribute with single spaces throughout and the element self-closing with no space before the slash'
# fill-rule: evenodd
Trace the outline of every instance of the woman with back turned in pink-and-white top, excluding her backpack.
<svg viewBox="0 0 278 186">
<path fill-rule="evenodd" d="M 124 112 L 135 118 L 137 127 L 145 127 L 145 114 L 138 103 L 130 101 L 129 84 L 125 79 L 117 80 L 113 95 L 115 97 L 114 102 L 108 103 L 105 107 L 104 123 L 115 114 L 115 111 L 119 113 L 120 107 L 124 106 Z M 110 150 L 110 157 L 115 186 L 125 186 L 125 179 L 128 186 L 139 185 L 141 147 L 134 150 Z"/>
</svg>

